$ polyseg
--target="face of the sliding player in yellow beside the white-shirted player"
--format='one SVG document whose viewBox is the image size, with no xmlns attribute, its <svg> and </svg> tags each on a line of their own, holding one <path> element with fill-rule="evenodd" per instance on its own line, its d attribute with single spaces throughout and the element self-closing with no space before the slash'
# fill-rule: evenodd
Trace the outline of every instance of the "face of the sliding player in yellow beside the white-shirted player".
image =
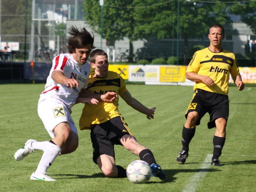
<svg viewBox="0 0 256 192">
<path fill-rule="evenodd" d="M 91 67 L 95 70 L 95 75 L 99 77 L 106 77 L 108 74 L 108 57 L 98 55 L 95 63 L 91 63 Z"/>
</svg>

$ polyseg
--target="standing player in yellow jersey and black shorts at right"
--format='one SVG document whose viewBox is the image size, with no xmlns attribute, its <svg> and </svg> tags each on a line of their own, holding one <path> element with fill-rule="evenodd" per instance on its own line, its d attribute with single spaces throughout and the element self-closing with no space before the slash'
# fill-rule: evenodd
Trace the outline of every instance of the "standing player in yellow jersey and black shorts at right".
<svg viewBox="0 0 256 192">
<path fill-rule="evenodd" d="M 188 64 L 186 78 L 195 81 L 192 101 L 188 106 L 182 130 L 182 151 L 178 152 L 177 162 L 184 164 L 188 157 L 188 145 L 205 113 L 210 114 L 208 128 L 216 128 L 213 137 L 212 165 L 221 166 L 218 159 L 226 138 L 226 125 L 229 113 L 228 80 L 231 74 L 239 91 L 244 84 L 239 74 L 235 55 L 222 49 L 224 28 L 214 24 L 209 29 L 210 46 L 195 52 Z"/>
</svg>

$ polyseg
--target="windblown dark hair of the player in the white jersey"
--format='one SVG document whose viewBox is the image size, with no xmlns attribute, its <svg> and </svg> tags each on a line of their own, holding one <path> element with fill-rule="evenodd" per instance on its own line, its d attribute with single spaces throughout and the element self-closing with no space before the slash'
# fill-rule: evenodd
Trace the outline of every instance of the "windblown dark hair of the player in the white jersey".
<svg viewBox="0 0 256 192">
<path fill-rule="evenodd" d="M 69 32 L 71 36 L 67 38 L 68 53 L 74 53 L 76 48 L 84 48 L 86 45 L 91 44 L 91 48 L 94 49 L 94 34 L 93 36 L 83 28 L 81 31 L 77 27 L 71 26 Z"/>
</svg>

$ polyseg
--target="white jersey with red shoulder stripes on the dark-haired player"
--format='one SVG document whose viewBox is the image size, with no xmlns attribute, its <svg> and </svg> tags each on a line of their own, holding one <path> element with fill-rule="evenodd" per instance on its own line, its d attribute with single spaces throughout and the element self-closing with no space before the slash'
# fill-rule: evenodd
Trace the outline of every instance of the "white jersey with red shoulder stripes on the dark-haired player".
<svg viewBox="0 0 256 192">
<path fill-rule="evenodd" d="M 53 71 L 62 71 L 64 76 L 68 78 L 76 79 L 79 83 L 79 87 L 70 89 L 65 84 L 58 84 L 51 78 Z M 90 64 L 85 63 L 83 65 L 77 63 L 72 54 L 65 53 L 56 56 L 53 59 L 53 66 L 50 74 L 47 78 L 45 90 L 40 94 L 38 103 L 47 98 L 56 98 L 66 105 L 67 108 L 71 109 L 75 104 L 78 94 L 81 89 L 87 88 L 88 77 L 90 75 Z"/>
</svg>

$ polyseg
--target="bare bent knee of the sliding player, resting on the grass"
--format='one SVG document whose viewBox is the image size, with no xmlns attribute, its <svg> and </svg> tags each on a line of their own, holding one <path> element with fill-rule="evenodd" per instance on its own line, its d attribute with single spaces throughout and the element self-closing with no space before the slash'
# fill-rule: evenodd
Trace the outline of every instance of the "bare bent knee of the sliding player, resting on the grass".
<svg viewBox="0 0 256 192">
<path fill-rule="evenodd" d="M 101 169 L 102 173 L 106 177 L 115 178 L 117 177 L 118 170 L 115 165 L 115 158 L 106 154 L 102 154 L 97 159 L 97 164 Z"/>
</svg>

